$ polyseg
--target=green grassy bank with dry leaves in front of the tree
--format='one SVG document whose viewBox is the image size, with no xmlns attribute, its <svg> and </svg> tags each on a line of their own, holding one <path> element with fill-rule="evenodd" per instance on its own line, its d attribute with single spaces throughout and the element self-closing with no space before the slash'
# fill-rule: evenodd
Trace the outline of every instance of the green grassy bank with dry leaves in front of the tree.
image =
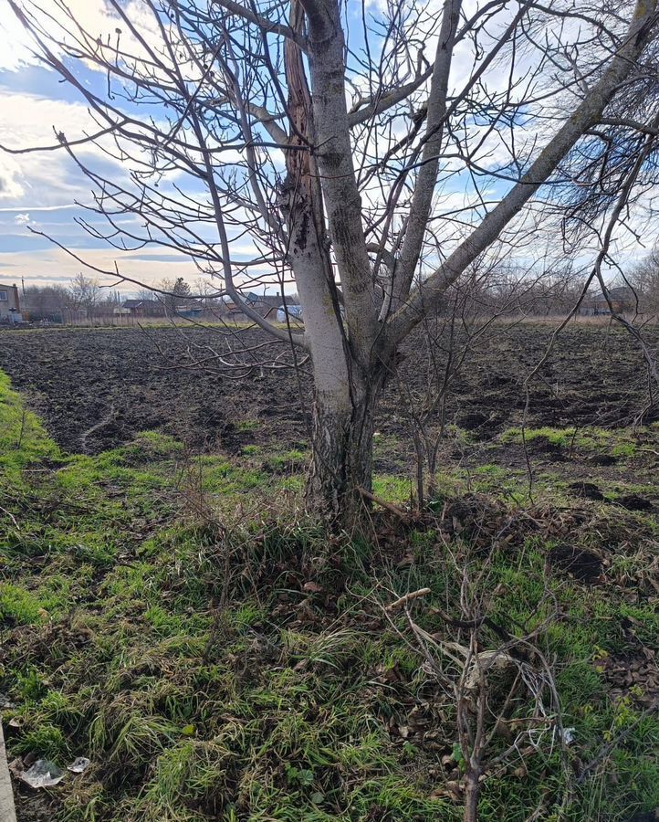
<svg viewBox="0 0 659 822">
<path fill-rule="evenodd" d="M 4 377 L 0 454 L 9 755 L 91 760 L 24 820 L 457 820 L 480 708 L 480 819 L 659 806 L 651 513 L 446 481 L 329 537 L 301 452 L 68 456 Z"/>
</svg>

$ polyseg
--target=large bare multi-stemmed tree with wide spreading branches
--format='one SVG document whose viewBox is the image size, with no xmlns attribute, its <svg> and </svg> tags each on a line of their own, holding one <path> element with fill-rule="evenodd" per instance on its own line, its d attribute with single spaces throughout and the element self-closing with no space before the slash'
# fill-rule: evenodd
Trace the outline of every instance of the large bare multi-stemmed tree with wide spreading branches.
<svg viewBox="0 0 659 822">
<path fill-rule="evenodd" d="M 389 0 L 361 19 L 339 0 L 143 0 L 139 20 L 108 0 L 117 26 L 100 37 L 66 0 L 9 5 L 96 121 L 32 148 L 87 174 L 105 238 L 184 254 L 293 363 L 309 358 L 309 501 L 342 522 L 371 489 L 373 415 L 403 341 L 488 249 L 528 248 L 543 204 L 611 211 L 659 134 L 656 0 Z M 275 281 L 295 284 L 304 332 L 244 299 Z"/>
</svg>

